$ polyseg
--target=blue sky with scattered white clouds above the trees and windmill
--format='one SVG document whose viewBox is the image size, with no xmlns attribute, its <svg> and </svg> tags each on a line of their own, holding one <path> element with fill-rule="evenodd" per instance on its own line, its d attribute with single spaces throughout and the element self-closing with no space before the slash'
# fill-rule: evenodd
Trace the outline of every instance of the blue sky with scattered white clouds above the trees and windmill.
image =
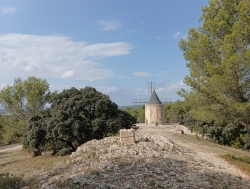
<svg viewBox="0 0 250 189">
<path fill-rule="evenodd" d="M 46 79 L 59 92 L 91 86 L 119 106 L 176 94 L 189 74 L 178 48 L 208 0 L 1 0 L 0 89 Z"/>
</svg>

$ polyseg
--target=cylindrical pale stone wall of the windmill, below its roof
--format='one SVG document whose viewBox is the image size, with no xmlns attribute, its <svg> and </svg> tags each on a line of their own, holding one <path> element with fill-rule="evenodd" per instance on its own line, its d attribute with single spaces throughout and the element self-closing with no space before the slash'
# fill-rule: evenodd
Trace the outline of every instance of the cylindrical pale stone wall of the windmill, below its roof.
<svg viewBox="0 0 250 189">
<path fill-rule="evenodd" d="M 164 105 L 146 104 L 145 105 L 145 123 L 147 125 L 164 124 Z"/>
</svg>

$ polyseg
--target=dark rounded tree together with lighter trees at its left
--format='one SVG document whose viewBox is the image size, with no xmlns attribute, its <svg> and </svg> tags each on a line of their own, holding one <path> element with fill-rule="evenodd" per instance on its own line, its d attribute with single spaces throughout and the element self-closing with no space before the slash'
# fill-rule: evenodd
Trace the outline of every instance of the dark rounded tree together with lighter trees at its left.
<svg viewBox="0 0 250 189">
<path fill-rule="evenodd" d="M 0 104 L 9 113 L 0 115 L 1 143 L 22 142 L 33 156 L 69 154 L 86 141 L 116 135 L 136 123 L 95 88 L 51 93 L 47 81 L 34 76 L 3 88 Z"/>
</svg>

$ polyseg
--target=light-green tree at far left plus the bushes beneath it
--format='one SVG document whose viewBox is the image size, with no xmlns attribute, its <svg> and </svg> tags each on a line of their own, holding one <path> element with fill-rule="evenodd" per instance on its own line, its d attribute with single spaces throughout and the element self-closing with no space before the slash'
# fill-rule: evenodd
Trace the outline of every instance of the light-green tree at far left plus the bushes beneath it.
<svg viewBox="0 0 250 189">
<path fill-rule="evenodd" d="M 45 108 L 51 96 L 47 81 L 34 76 L 17 78 L 12 86 L 0 90 L 0 105 L 8 112 L 0 118 L 6 131 L 2 142 L 20 141 L 28 120 Z"/>
</svg>

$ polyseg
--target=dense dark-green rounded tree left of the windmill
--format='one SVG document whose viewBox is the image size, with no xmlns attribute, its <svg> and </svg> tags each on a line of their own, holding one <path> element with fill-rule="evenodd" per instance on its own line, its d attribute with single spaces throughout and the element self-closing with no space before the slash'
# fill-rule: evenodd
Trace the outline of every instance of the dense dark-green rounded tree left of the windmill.
<svg viewBox="0 0 250 189">
<path fill-rule="evenodd" d="M 51 107 L 29 120 L 24 146 L 40 155 L 50 146 L 63 155 L 91 139 L 102 139 L 121 128 L 131 128 L 136 119 L 118 109 L 107 95 L 92 87 L 71 88 L 54 95 Z"/>
</svg>

